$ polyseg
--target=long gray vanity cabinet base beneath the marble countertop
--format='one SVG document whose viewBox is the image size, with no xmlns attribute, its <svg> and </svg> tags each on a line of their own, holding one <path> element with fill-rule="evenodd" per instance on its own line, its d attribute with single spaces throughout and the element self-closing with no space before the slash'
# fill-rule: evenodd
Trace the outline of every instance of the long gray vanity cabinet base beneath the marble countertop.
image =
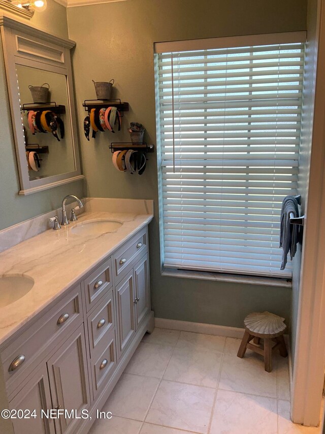
<svg viewBox="0 0 325 434">
<path fill-rule="evenodd" d="M 139 230 L 2 345 L 0 393 L 8 408 L 37 414 L 12 419 L 8 434 L 88 433 L 154 327 L 147 237 L 147 227 Z M 56 417 L 45 417 L 50 411 Z"/>
</svg>

